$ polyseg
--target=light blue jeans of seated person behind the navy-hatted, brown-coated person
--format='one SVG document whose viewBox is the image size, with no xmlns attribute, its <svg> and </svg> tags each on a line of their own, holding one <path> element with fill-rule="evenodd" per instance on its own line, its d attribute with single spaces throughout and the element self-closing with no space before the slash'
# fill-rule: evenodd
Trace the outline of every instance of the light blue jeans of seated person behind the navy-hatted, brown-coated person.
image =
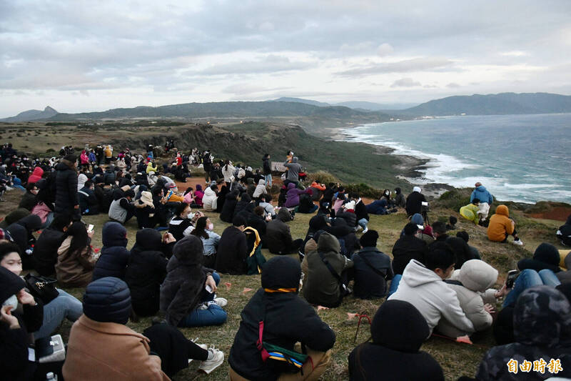
<svg viewBox="0 0 571 381">
<path fill-rule="evenodd" d="M 49 337 L 57 330 L 64 318 L 71 322 L 79 319 L 84 313 L 84 306 L 75 297 L 69 295 L 64 290 L 57 289 L 59 296 L 44 305 L 44 322 L 40 329 L 34 332 L 34 338 Z"/>
</svg>

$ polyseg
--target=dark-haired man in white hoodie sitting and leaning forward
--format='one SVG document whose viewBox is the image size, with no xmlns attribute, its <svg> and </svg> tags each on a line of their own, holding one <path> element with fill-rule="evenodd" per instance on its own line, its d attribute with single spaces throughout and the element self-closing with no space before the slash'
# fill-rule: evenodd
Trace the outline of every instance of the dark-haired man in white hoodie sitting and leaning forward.
<svg viewBox="0 0 571 381">
<path fill-rule="evenodd" d="M 428 323 L 430 333 L 442 318 L 460 331 L 474 332 L 474 325 L 460 308 L 456 293 L 443 282 L 453 272 L 454 260 L 448 244 L 434 242 L 423 263 L 412 259 L 407 264 L 396 292 L 388 300 L 404 300 L 415 306 Z"/>
</svg>

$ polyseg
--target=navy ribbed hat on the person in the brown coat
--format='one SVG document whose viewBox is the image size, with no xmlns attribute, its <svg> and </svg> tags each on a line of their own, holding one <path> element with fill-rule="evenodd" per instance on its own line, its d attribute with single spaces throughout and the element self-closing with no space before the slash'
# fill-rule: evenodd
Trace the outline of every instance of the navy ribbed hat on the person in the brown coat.
<svg viewBox="0 0 571 381">
<path fill-rule="evenodd" d="M 84 314 L 96 322 L 126 324 L 131 315 L 131 292 L 116 277 L 103 277 L 87 285 Z"/>
</svg>

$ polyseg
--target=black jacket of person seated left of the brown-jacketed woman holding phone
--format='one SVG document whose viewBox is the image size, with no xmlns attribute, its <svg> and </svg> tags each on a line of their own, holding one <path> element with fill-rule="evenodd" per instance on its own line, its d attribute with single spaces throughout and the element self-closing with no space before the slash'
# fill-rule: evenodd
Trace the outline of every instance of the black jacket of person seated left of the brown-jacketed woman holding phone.
<svg viewBox="0 0 571 381">
<path fill-rule="evenodd" d="M 44 277 L 55 274 L 58 260 L 58 249 L 64 242 L 64 232 L 53 227 L 48 227 L 41 232 L 36 240 L 32 262 L 34 269 Z"/>
</svg>

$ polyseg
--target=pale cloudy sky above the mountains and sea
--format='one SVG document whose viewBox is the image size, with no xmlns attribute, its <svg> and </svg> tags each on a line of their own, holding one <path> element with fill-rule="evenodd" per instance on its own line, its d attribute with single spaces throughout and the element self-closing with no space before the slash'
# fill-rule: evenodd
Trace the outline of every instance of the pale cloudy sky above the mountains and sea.
<svg viewBox="0 0 571 381">
<path fill-rule="evenodd" d="M 164 4 L 158 4 L 164 3 Z M 0 117 L 571 94 L 571 1 L 0 1 Z"/>
</svg>

